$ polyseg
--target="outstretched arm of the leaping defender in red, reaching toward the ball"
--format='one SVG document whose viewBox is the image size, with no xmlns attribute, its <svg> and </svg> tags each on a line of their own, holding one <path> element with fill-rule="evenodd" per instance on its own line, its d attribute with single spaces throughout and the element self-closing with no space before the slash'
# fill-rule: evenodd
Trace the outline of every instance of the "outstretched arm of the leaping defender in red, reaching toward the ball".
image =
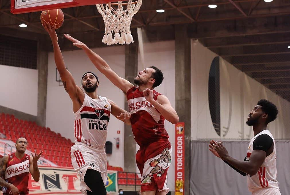
<svg viewBox="0 0 290 195">
<path fill-rule="evenodd" d="M 107 62 L 101 58 L 98 54 L 93 52 L 90 48 L 86 46 L 86 44 L 82 43 L 81 41 L 73 38 L 72 36 L 68 34 L 64 34 L 64 37 L 68 40 L 73 42 L 73 45 L 83 49 L 87 56 L 90 58 L 90 60 L 93 62 L 95 67 L 103 73 L 115 86 L 117 86 L 119 89 L 121 89 L 125 94 L 129 89 L 134 87 L 132 83 L 127 81 L 124 78 L 119 77 L 107 64 Z"/>
</svg>

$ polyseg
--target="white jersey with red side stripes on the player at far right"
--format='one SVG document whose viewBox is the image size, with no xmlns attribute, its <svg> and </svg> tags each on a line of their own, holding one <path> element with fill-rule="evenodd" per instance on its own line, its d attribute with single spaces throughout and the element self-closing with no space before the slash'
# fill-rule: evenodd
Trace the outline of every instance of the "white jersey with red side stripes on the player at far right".
<svg viewBox="0 0 290 195">
<path fill-rule="evenodd" d="M 270 187 L 279 189 L 278 181 L 277 181 L 277 168 L 276 168 L 276 144 L 275 144 L 273 135 L 270 133 L 269 130 L 263 130 L 251 139 L 248 152 L 247 152 L 247 161 L 249 161 L 250 156 L 253 152 L 254 140 L 259 135 L 262 135 L 262 134 L 267 134 L 273 139 L 274 148 L 273 148 L 273 152 L 265 158 L 265 161 L 263 162 L 259 171 L 255 175 L 250 176 L 249 174 L 247 174 L 247 183 L 248 183 L 248 188 L 250 192 L 253 192 L 258 189 L 270 188 Z"/>
</svg>

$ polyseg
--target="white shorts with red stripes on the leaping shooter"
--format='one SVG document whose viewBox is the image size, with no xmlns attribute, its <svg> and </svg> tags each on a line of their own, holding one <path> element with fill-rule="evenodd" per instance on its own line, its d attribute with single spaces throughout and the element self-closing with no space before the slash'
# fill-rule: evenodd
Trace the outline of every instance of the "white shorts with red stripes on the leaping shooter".
<svg viewBox="0 0 290 195">
<path fill-rule="evenodd" d="M 86 194 L 86 190 L 90 188 L 84 182 L 84 176 L 88 169 L 93 169 L 101 173 L 104 185 L 107 183 L 107 155 L 105 149 L 90 147 L 81 142 L 77 142 L 70 149 L 70 157 L 72 160 L 73 168 L 81 177 L 80 190 L 82 194 Z"/>
</svg>

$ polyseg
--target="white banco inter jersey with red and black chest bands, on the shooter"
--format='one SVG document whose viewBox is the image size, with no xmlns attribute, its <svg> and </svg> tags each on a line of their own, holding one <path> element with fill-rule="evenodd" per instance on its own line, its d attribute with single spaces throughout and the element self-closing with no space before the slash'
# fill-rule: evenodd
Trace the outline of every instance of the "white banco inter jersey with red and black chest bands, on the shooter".
<svg viewBox="0 0 290 195">
<path fill-rule="evenodd" d="M 111 104 L 106 97 L 96 100 L 85 94 L 83 105 L 75 113 L 75 143 L 104 148 L 110 112 Z"/>
</svg>

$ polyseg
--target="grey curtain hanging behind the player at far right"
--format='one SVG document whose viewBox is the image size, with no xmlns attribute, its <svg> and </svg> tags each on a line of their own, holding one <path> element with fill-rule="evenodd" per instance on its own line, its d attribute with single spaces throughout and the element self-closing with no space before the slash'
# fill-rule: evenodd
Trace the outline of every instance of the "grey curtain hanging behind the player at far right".
<svg viewBox="0 0 290 195">
<path fill-rule="evenodd" d="M 276 140 L 280 192 L 290 194 L 290 140 Z M 229 154 L 244 160 L 249 141 L 223 141 Z M 191 141 L 191 195 L 251 195 L 242 176 L 209 151 L 209 141 Z"/>
</svg>

